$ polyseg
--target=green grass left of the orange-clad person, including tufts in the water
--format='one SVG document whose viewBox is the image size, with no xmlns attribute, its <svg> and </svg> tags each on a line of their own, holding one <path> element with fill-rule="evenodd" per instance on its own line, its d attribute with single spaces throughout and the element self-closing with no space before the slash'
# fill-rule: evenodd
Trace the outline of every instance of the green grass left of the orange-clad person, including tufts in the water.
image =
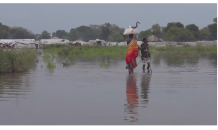
<svg viewBox="0 0 218 130">
<path fill-rule="evenodd" d="M 126 46 L 66 46 L 66 45 L 45 45 L 44 52 L 55 55 L 63 66 L 72 65 L 76 60 L 83 61 L 101 59 L 100 66 L 108 67 L 109 58 L 115 60 L 125 59 Z"/>
</svg>

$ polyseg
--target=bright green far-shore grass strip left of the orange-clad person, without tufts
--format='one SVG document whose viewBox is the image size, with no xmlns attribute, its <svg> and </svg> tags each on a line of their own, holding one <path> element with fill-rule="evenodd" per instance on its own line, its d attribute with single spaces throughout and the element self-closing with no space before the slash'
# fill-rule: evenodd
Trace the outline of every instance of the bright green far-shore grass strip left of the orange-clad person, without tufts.
<svg viewBox="0 0 218 130">
<path fill-rule="evenodd" d="M 94 57 L 125 57 L 126 47 L 124 46 L 66 46 L 66 45 L 45 45 L 43 48 L 50 54 L 58 54 L 59 56 L 68 57 L 83 57 L 83 58 L 94 58 Z"/>
</svg>

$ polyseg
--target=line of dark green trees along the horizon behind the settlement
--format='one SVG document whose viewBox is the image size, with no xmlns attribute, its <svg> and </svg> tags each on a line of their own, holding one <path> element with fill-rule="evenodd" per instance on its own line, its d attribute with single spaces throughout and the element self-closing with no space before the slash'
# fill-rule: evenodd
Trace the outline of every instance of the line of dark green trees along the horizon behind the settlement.
<svg viewBox="0 0 218 130">
<path fill-rule="evenodd" d="M 75 40 L 94 40 L 102 39 L 105 41 L 122 42 L 125 28 L 120 28 L 116 24 L 105 23 L 102 25 L 89 25 L 72 28 L 70 32 L 57 30 L 49 33 L 44 30 L 41 34 L 33 34 L 32 31 L 23 27 L 9 27 L 0 23 L 0 39 L 50 39 L 59 37 Z M 218 17 L 213 19 L 213 23 L 207 27 L 199 29 L 195 24 L 184 26 L 180 22 L 169 22 L 167 26 L 161 27 L 159 24 L 152 25 L 151 28 L 141 31 L 138 40 L 143 37 L 155 35 L 164 41 L 198 41 L 198 40 L 218 40 Z"/>
</svg>

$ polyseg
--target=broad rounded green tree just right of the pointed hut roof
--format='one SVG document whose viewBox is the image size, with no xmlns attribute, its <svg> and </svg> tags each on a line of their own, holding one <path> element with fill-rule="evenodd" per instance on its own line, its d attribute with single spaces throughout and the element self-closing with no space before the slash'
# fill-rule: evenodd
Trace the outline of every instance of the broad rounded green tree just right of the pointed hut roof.
<svg viewBox="0 0 218 130">
<path fill-rule="evenodd" d="M 194 35 L 188 29 L 178 27 L 171 27 L 164 38 L 176 42 L 195 41 Z"/>
</svg>

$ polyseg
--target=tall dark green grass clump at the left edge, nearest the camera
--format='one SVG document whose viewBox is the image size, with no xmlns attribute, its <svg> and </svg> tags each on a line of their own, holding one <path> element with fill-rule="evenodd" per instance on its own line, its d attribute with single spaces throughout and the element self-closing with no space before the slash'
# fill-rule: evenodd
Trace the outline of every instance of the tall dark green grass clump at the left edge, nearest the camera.
<svg viewBox="0 0 218 130">
<path fill-rule="evenodd" d="M 37 54 L 32 49 L 0 48 L 0 73 L 22 72 L 36 64 Z"/>
</svg>

